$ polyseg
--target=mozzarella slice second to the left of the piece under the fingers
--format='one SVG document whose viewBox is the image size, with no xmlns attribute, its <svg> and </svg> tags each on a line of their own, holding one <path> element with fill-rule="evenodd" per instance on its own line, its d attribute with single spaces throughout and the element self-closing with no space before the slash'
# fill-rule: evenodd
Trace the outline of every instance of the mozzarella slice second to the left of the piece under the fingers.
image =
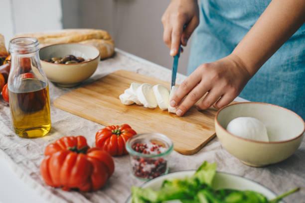
<svg viewBox="0 0 305 203">
<path fill-rule="evenodd" d="M 142 84 L 137 89 L 137 97 L 145 107 L 155 108 L 158 105 L 153 94 L 152 85 L 148 83 Z"/>
</svg>

